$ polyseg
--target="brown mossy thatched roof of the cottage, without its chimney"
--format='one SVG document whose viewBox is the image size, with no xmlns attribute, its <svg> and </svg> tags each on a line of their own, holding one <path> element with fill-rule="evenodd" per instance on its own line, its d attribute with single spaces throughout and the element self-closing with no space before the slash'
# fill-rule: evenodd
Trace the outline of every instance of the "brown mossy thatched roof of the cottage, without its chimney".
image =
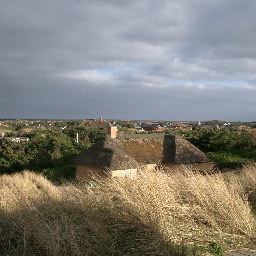
<svg viewBox="0 0 256 256">
<path fill-rule="evenodd" d="M 138 168 L 141 164 L 200 163 L 209 159 L 178 135 L 132 134 L 103 137 L 78 155 L 74 163 L 111 170 Z"/>
</svg>

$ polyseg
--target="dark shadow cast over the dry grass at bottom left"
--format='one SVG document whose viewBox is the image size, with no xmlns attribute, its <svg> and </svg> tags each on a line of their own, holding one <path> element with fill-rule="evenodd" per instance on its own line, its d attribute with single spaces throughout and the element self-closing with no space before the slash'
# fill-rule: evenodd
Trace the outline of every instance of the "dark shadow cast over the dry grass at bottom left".
<svg viewBox="0 0 256 256">
<path fill-rule="evenodd" d="M 0 210 L 0 255 L 201 255 L 163 240 L 139 220 L 107 207 L 51 200 L 7 213 Z"/>
</svg>

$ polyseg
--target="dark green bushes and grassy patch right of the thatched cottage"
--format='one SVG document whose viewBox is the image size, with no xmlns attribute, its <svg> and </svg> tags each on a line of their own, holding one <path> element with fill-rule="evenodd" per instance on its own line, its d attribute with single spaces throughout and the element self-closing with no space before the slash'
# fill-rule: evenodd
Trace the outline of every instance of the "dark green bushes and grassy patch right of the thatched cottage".
<svg viewBox="0 0 256 256">
<path fill-rule="evenodd" d="M 185 137 L 221 167 L 241 168 L 248 162 L 256 161 L 256 140 L 248 131 L 195 130 Z"/>
</svg>

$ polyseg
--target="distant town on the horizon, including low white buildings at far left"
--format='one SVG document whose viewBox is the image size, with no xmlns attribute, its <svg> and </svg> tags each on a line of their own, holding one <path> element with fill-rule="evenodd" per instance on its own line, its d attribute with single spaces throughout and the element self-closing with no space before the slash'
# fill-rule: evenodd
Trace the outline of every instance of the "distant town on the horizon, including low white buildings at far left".
<svg viewBox="0 0 256 256">
<path fill-rule="evenodd" d="M 91 129 L 107 129 L 108 126 L 117 126 L 118 132 L 166 132 L 168 130 L 188 131 L 197 129 L 228 129 L 228 128 L 256 128 L 253 122 L 228 122 L 222 120 L 210 121 L 146 121 L 146 120 L 104 120 L 88 118 L 84 120 L 47 120 L 47 119 L 0 119 L 0 146 L 4 140 L 26 142 L 27 134 L 33 130 L 64 130 L 67 126 L 83 126 Z"/>
</svg>

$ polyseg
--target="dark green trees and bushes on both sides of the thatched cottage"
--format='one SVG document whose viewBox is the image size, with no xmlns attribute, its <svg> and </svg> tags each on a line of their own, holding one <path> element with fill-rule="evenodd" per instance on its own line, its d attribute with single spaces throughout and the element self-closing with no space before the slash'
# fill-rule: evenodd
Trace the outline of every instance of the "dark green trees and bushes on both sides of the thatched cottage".
<svg viewBox="0 0 256 256">
<path fill-rule="evenodd" d="M 77 133 L 78 144 L 75 143 Z M 182 135 L 222 167 L 240 168 L 248 162 L 256 162 L 255 129 L 166 130 L 165 133 Z M 106 130 L 88 130 L 76 122 L 67 122 L 64 130 L 34 129 L 27 134 L 16 133 L 29 137 L 29 141 L 5 142 L 0 148 L 0 174 L 26 169 L 41 172 L 53 180 L 72 178 L 75 165 L 71 160 L 105 134 Z"/>
</svg>

